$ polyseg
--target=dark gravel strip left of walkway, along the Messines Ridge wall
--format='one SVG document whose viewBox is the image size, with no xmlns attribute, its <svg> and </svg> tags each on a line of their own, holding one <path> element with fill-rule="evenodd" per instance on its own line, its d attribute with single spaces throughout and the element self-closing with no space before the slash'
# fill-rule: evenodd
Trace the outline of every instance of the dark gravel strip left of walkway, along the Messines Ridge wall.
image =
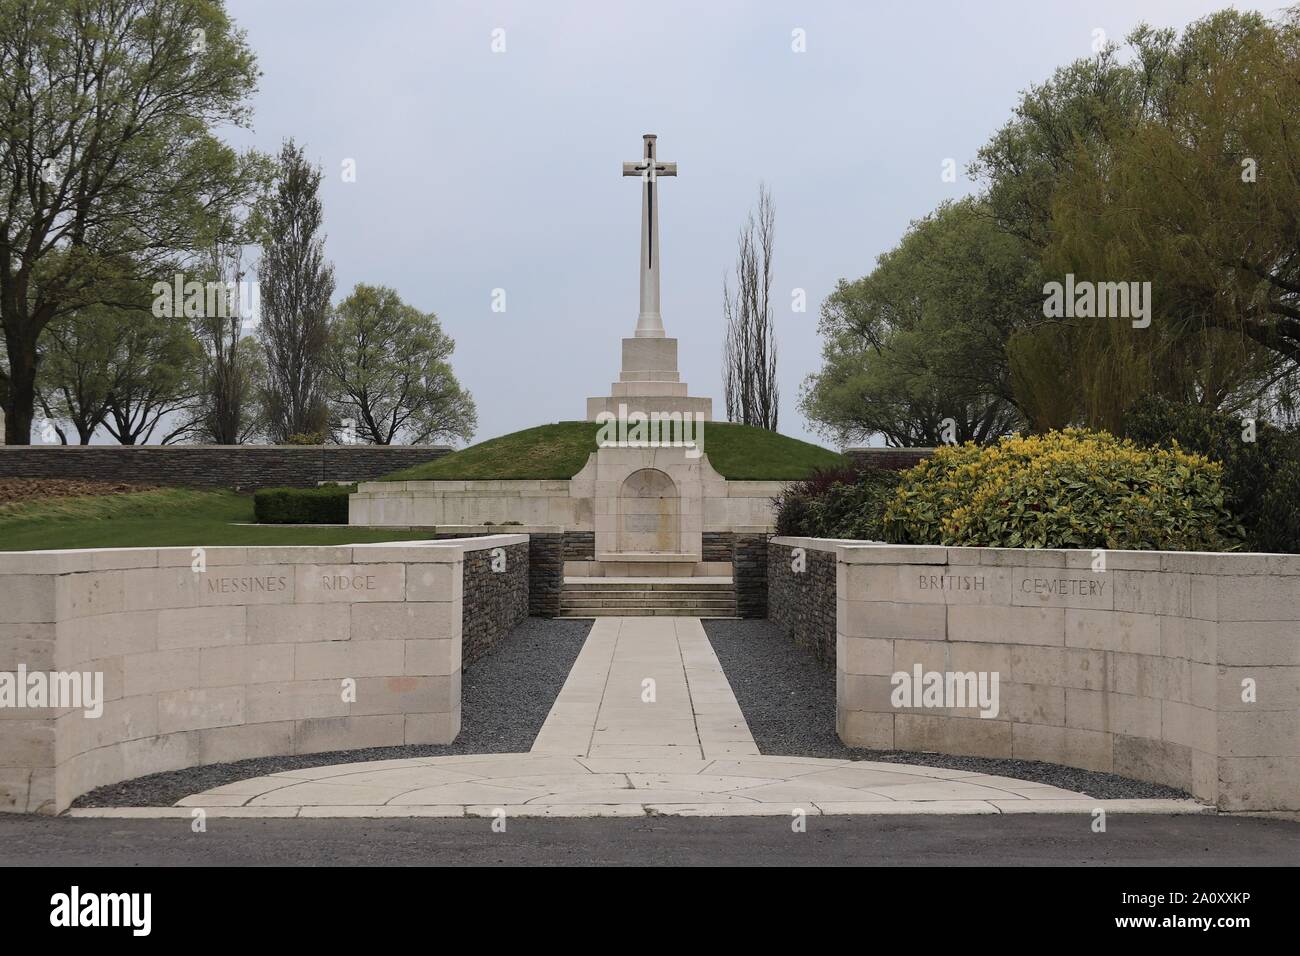
<svg viewBox="0 0 1300 956">
<path fill-rule="evenodd" d="M 225 783 L 330 763 L 526 752 L 590 630 L 590 620 L 528 618 L 467 667 L 462 676 L 460 735 L 452 744 L 374 747 L 211 763 L 100 787 L 77 797 L 73 806 L 170 806 L 181 797 Z"/>
</svg>

